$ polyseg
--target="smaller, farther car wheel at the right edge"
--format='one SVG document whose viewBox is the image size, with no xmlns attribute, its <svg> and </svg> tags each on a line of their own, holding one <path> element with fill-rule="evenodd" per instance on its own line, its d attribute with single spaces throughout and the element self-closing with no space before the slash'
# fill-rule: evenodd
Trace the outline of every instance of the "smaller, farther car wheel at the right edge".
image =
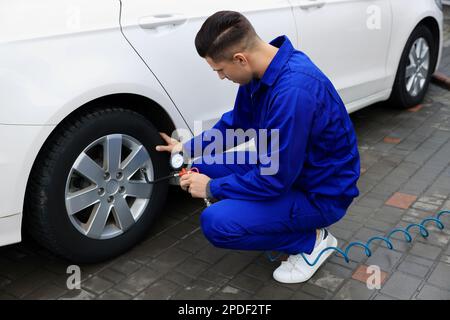
<svg viewBox="0 0 450 320">
<path fill-rule="evenodd" d="M 435 39 L 427 27 L 419 25 L 403 50 L 389 104 L 405 109 L 421 103 L 430 84 L 436 59 Z"/>
</svg>

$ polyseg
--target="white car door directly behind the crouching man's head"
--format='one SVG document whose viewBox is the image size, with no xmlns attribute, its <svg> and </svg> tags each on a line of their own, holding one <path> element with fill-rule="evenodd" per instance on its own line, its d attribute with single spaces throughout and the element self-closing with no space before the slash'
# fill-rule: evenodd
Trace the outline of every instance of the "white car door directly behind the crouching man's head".
<svg viewBox="0 0 450 320">
<path fill-rule="evenodd" d="M 220 10 L 243 13 L 259 36 L 285 34 L 296 42 L 288 0 L 122 0 L 123 33 L 156 75 L 188 125 L 212 126 L 233 108 L 238 86 L 220 81 L 195 49 L 194 39 L 208 16 Z"/>
</svg>

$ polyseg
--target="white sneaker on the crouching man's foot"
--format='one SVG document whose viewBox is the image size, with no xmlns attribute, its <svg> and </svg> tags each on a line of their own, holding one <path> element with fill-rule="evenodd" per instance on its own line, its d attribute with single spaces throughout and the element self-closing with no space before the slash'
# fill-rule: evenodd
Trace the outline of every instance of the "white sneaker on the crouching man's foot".
<svg viewBox="0 0 450 320">
<path fill-rule="evenodd" d="M 303 254 L 310 263 L 313 263 L 320 252 L 327 247 L 337 247 L 337 239 L 326 229 L 322 229 L 322 239 L 315 246 L 311 254 Z M 310 266 L 303 259 L 301 254 L 290 255 L 286 261 L 273 272 L 273 278 L 282 283 L 300 283 L 308 281 L 319 267 L 333 253 L 333 250 L 326 251 L 314 266 Z"/>
</svg>

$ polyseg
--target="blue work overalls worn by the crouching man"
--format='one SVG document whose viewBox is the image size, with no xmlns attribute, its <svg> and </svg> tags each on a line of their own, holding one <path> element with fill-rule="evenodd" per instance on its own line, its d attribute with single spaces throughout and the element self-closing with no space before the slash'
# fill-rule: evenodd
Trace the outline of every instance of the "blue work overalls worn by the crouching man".
<svg viewBox="0 0 450 320">
<path fill-rule="evenodd" d="M 202 212 L 201 227 L 217 247 L 309 254 L 316 229 L 341 219 L 359 194 L 357 141 L 330 80 L 286 36 L 271 44 L 279 50 L 263 77 L 239 87 L 233 110 L 213 129 L 224 137 L 226 129 L 253 128 L 257 135 L 278 129 L 278 150 L 266 151 L 278 152 L 278 171 L 262 175 L 259 162 L 229 164 L 225 153 L 216 164 L 196 159 L 193 166 L 212 179 L 210 191 L 220 200 Z M 184 143 L 185 152 L 201 156 L 208 135 L 211 130 Z M 249 158 L 250 151 L 241 152 Z"/>
</svg>

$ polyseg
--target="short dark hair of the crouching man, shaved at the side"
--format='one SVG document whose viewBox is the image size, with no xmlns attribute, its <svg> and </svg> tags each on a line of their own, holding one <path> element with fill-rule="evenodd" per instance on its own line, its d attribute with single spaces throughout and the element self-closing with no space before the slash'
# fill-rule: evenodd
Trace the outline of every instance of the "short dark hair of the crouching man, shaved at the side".
<svg viewBox="0 0 450 320">
<path fill-rule="evenodd" d="M 200 57 L 220 62 L 251 47 L 257 38 L 255 29 L 243 14 L 218 11 L 203 23 L 195 37 L 195 47 Z"/>
</svg>

